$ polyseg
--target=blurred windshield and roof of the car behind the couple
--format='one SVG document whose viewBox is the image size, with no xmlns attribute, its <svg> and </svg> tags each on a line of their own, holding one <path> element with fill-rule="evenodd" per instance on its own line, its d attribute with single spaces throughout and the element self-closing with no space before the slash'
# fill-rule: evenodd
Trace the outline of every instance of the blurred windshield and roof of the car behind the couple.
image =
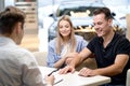
<svg viewBox="0 0 130 86">
<path fill-rule="evenodd" d="M 66 1 L 62 2 L 57 9 L 56 17 L 62 15 L 69 15 L 72 17 L 87 17 L 92 16 L 92 12 L 104 4 L 96 6 L 92 5 L 93 2 L 90 1 Z"/>
</svg>

